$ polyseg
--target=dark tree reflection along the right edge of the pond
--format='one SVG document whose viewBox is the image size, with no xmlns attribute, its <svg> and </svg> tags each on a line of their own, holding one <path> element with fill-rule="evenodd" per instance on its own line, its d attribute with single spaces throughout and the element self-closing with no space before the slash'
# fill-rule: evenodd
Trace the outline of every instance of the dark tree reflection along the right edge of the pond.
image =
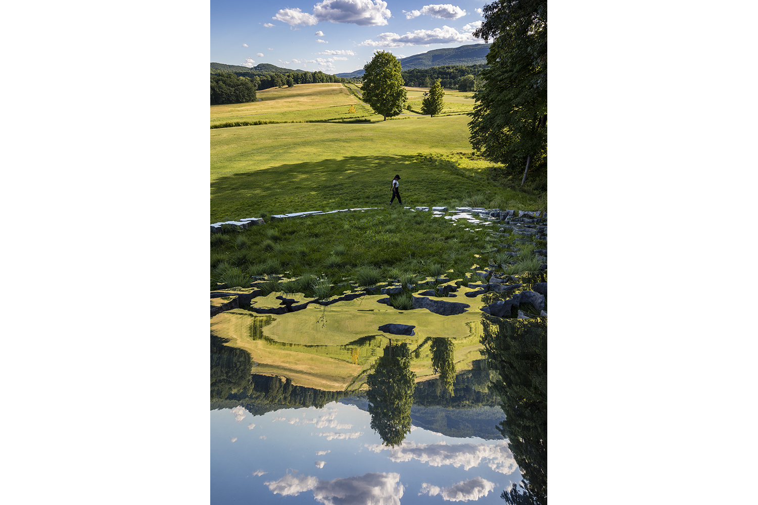
<svg viewBox="0 0 758 505">
<path fill-rule="evenodd" d="M 547 504 L 547 319 L 508 320 L 482 315 L 490 386 L 503 401 L 498 430 L 522 470 L 524 494 L 503 491 L 507 503 Z"/>
</svg>

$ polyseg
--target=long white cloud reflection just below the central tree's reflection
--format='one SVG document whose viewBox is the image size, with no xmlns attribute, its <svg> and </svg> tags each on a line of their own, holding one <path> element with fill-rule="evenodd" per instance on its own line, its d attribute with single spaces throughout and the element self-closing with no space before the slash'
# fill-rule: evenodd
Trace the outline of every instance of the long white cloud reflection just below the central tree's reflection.
<svg viewBox="0 0 758 505">
<path fill-rule="evenodd" d="M 365 447 L 374 452 L 389 450 L 390 460 L 396 462 L 419 460 L 422 463 L 429 463 L 431 466 L 453 465 L 456 468 L 463 466 L 463 469 L 468 470 L 479 466 L 482 460 L 487 460 L 487 466 L 505 475 L 515 472 L 515 469 L 518 467 L 513 459 L 513 454 L 508 448 L 508 442 L 504 440 L 494 445 L 448 445 L 445 442 L 440 442 L 440 444 L 415 444 L 413 442 L 406 442 L 394 448 L 380 444 L 366 444 Z"/>
</svg>

